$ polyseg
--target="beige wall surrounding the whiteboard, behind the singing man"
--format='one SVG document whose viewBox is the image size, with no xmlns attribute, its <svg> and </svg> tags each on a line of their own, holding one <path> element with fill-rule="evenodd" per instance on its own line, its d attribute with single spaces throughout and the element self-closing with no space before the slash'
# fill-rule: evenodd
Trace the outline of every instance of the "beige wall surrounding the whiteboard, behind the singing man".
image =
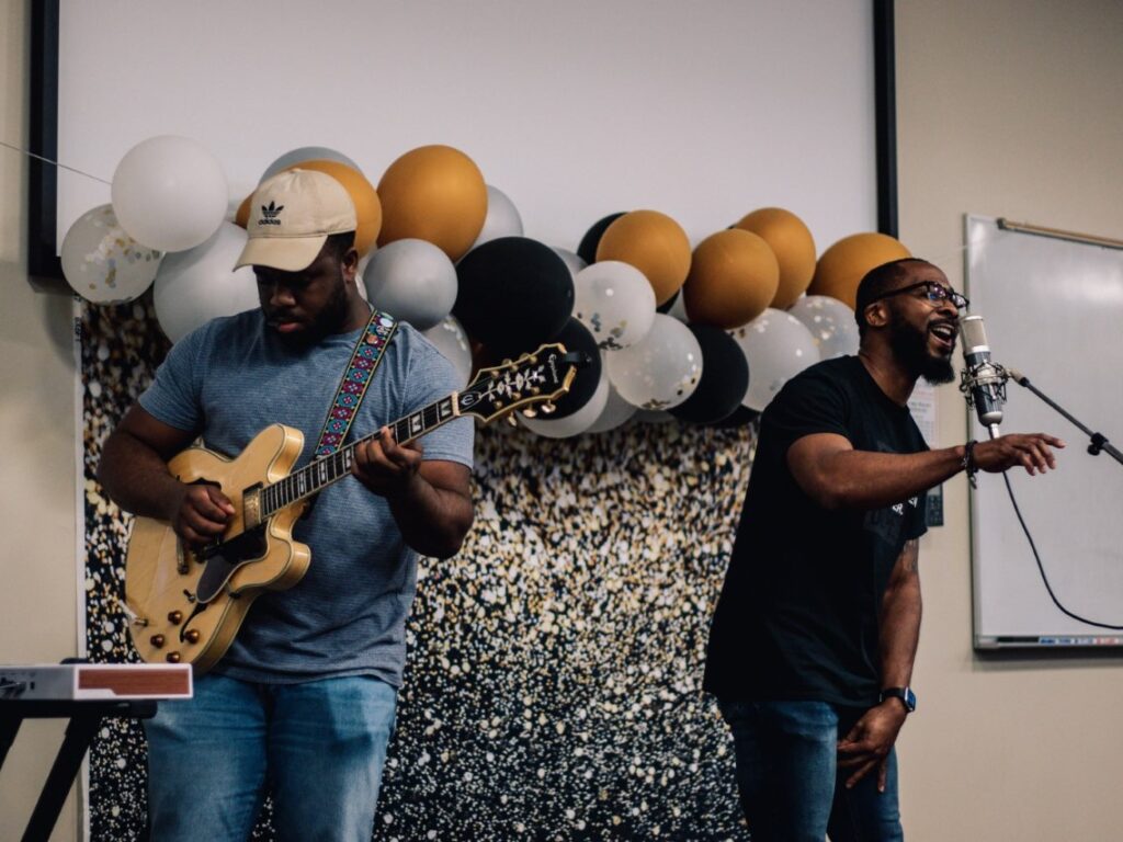
<svg viewBox="0 0 1123 842">
<path fill-rule="evenodd" d="M 896 17 L 901 237 L 914 254 L 960 285 L 966 212 L 1123 238 L 1123 4 L 897 0 Z M 961 442 L 961 397 L 949 386 L 939 401 L 941 443 Z M 1097 421 L 1120 434 L 1120 419 Z M 1004 429 L 1016 427 L 1007 418 Z M 1062 419 L 1056 431 L 1080 447 Z M 948 525 L 921 550 L 905 830 L 919 840 L 1123 838 L 1123 659 L 976 657 L 966 481 L 947 492 Z"/>
</svg>

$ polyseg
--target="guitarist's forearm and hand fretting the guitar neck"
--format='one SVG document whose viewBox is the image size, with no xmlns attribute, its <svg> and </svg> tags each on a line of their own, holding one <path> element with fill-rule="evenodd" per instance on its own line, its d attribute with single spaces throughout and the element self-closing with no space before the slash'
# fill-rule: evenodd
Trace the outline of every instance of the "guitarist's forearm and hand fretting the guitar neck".
<svg viewBox="0 0 1123 842">
<path fill-rule="evenodd" d="M 474 516 L 471 472 L 444 459 L 422 459 L 417 441 L 398 445 L 387 428 L 355 448 L 351 473 L 386 498 L 405 543 L 423 556 L 456 555 Z"/>
</svg>

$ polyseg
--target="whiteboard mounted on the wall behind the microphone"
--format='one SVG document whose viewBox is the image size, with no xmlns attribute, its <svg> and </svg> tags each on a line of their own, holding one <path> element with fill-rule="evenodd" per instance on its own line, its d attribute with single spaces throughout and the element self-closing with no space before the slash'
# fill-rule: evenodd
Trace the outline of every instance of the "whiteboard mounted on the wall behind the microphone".
<svg viewBox="0 0 1123 842">
<path fill-rule="evenodd" d="M 967 217 L 967 295 L 994 361 L 1116 447 L 1123 443 L 1123 250 L 1003 230 Z M 1123 625 L 1123 465 L 1011 381 L 1002 432 L 1051 432 L 1058 469 L 1008 472 L 1053 593 L 1069 611 Z M 986 431 L 975 413 L 971 438 Z M 1121 646 L 1123 632 L 1072 620 L 1049 597 L 1002 476 L 971 492 L 975 644 Z"/>
</svg>

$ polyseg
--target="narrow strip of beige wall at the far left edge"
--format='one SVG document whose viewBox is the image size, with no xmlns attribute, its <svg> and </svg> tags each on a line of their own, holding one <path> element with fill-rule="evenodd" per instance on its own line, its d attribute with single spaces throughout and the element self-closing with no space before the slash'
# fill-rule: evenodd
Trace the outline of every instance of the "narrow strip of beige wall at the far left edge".
<svg viewBox="0 0 1123 842">
<path fill-rule="evenodd" d="M 27 137 L 29 0 L 0 0 L 0 138 Z M 71 298 L 27 280 L 27 173 L 0 147 L 0 663 L 76 653 L 74 360 Z M 20 729 L 0 771 L 0 839 L 18 839 L 63 736 Z M 74 839 L 74 797 L 53 839 Z"/>
</svg>

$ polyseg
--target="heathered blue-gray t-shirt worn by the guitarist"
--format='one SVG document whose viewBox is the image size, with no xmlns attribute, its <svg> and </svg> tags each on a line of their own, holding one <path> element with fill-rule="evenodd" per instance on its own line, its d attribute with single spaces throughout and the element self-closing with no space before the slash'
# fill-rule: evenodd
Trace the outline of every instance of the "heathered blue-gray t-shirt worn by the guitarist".
<svg viewBox="0 0 1123 842">
<path fill-rule="evenodd" d="M 311 461 L 328 408 L 360 331 L 307 350 L 283 345 L 259 310 L 216 319 L 180 340 L 140 405 L 207 448 L 237 456 L 270 424 L 304 434 L 295 467 Z M 458 386 L 451 364 L 409 324 L 399 324 L 348 441 L 444 397 Z M 473 422 L 463 418 L 421 439 L 426 459 L 472 467 Z M 405 619 L 417 589 L 417 553 L 383 497 L 345 477 L 314 498 L 293 537 L 311 548 L 304 577 L 265 592 L 214 672 L 294 683 L 372 675 L 401 685 Z"/>
</svg>

